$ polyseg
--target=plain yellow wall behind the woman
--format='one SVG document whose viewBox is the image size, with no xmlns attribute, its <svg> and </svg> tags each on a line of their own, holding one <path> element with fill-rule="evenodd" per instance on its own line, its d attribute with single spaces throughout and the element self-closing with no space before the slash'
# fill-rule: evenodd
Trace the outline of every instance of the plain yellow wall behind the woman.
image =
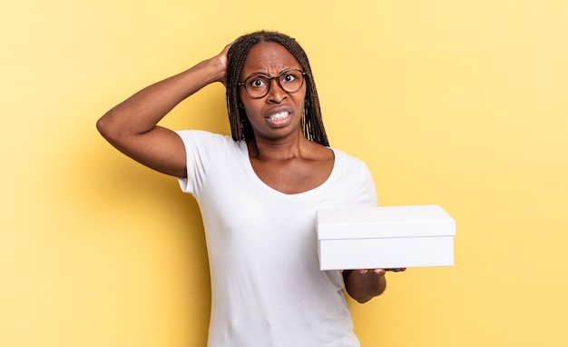
<svg viewBox="0 0 568 347">
<path fill-rule="evenodd" d="M 0 14 L 0 346 L 203 346 L 199 210 L 96 119 L 260 28 L 308 51 L 381 205 L 437 203 L 455 267 L 350 302 L 371 346 L 568 344 L 568 2 L 13 1 Z M 228 133 L 220 85 L 164 124 Z"/>
</svg>

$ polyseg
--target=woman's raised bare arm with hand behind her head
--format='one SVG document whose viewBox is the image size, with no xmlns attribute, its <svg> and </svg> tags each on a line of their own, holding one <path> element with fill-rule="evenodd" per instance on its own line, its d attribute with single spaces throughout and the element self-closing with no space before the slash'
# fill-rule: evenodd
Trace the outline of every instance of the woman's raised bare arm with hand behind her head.
<svg viewBox="0 0 568 347">
<path fill-rule="evenodd" d="M 225 82 L 227 51 L 189 70 L 152 84 L 116 105 L 97 121 L 103 137 L 123 154 L 161 173 L 185 177 L 186 156 L 180 136 L 158 122 L 202 87 Z"/>
</svg>

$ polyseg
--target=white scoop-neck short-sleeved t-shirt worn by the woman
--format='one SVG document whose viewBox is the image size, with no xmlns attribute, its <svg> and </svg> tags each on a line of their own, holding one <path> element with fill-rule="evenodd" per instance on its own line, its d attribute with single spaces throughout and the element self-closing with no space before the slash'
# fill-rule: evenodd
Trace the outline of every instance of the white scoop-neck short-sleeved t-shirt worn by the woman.
<svg viewBox="0 0 568 347">
<path fill-rule="evenodd" d="M 296 194 L 263 183 L 247 145 L 181 131 L 211 269 L 209 347 L 355 347 L 339 271 L 318 265 L 316 210 L 377 205 L 367 166 L 334 150 L 325 183 Z"/>
</svg>

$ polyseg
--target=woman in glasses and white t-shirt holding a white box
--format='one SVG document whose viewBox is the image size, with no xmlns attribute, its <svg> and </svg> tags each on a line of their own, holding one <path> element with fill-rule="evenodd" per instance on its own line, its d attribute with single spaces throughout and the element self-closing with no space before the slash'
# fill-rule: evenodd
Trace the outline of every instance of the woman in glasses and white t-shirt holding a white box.
<svg viewBox="0 0 568 347">
<path fill-rule="evenodd" d="M 158 126 L 207 84 L 227 87 L 232 138 Z M 211 347 L 358 346 L 357 302 L 385 270 L 321 272 L 316 210 L 377 205 L 367 167 L 328 147 L 308 58 L 287 35 L 243 35 L 98 121 L 122 153 L 178 177 L 200 204 L 211 268 Z"/>
</svg>

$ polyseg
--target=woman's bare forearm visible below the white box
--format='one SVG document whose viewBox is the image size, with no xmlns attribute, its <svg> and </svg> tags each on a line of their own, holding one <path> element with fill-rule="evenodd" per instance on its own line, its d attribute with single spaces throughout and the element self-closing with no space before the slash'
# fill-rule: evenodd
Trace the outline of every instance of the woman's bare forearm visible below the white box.
<svg viewBox="0 0 568 347">
<path fill-rule="evenodd" d="M 387 280 L 385 272 L 376 273 L 373 270 L 361 272 L 358 270 L 344 272 L 345 288 L 357 302 L 368 302 L 385 292 Z"/>
</svg>

